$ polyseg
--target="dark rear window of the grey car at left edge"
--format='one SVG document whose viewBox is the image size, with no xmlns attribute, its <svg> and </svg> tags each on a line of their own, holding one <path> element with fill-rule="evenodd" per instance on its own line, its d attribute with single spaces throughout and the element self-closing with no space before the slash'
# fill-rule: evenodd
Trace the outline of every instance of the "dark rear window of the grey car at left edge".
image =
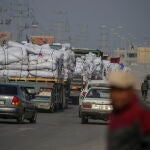
<svg viewBox="0 0 150 150">
<path fill-rule="evenodd" d="M 17 87 L 10 85 L 0 85 L 1 95 L 17 95 Z"/>
</svg>

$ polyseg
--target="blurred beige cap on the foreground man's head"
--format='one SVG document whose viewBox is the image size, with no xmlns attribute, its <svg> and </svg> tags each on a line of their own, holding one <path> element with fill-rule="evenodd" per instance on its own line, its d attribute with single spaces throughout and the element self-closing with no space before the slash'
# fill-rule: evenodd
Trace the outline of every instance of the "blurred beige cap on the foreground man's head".
<svg viewBox="0 0 150 150">
<path fill-rule="evenodd" d="M 127 72 L 123 70 L 112 71 L 108 75 L 108 81 L 110 86 L 114 86 L 118 88 L 136 87 L 135 76 L 131 72 Z"/>
</svg>

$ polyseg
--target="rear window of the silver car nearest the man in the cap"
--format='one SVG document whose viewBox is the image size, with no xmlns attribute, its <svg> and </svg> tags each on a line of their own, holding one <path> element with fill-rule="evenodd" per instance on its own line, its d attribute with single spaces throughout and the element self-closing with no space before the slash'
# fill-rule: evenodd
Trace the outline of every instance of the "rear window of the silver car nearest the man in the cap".
<svg viewBox="0 0 150 150">
<path fill-rule="evenodd" d="M 86 98 L 110 98 L 110 90 L 109 89 L 91 89 Z"/>
</svg>

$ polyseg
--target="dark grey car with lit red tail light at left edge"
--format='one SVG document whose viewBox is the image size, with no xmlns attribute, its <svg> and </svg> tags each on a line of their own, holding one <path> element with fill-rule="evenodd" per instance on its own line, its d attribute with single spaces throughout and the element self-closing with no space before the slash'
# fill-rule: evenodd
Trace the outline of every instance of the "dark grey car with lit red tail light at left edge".
<svg viewBox="0 0 150 150">
<path fill-rule="evenodd" d="M 28 120 L 36 123 L 36 107 L 30 101 L 25 87 L 17 84 L 0 84 L 0 118 L 16 119 L 18 123 Z"/>
</svg>

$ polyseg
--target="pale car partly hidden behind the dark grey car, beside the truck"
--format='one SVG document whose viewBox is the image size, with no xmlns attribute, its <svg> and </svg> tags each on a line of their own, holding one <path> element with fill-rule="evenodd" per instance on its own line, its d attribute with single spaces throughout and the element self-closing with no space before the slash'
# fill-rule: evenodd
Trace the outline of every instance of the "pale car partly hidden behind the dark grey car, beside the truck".
<svg viewBox="0 0 150 150">
<path fill-rule="evenodd" d="M 36 95 L 32 102 L 36 105 L 38 110 L 45 110 L 49 112 L 55 111 L 55 104 L 51 100 L 51 96 Z"/>
</svg>

